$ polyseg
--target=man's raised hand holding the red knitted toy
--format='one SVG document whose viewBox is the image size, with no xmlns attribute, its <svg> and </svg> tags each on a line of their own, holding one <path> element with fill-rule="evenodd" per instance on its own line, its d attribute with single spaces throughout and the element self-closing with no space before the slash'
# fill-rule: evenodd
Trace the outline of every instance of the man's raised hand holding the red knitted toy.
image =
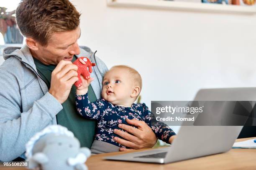
<svg viewBox="0 0 256 170">
<path fill-rule="evenodd" d="M 77 80 L 77 65 L 71 61 L 61 60 L 51 73 L 49 93 L 62 104 L 67 100 L 71 87 Z"/>
</svg>

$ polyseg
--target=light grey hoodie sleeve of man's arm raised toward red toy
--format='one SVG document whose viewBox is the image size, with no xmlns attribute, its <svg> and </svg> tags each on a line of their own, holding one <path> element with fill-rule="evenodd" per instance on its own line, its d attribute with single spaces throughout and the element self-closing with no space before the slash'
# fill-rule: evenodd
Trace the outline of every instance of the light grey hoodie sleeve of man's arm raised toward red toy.
<svg viewBox="0 0 256 170">
<path fill-rule="evenodd" d="M 36 80 L 35 80 L 36 81 Z M 14 75 L 4 68 L 0 71 L 0 160 L 11 161 L 25 152 L 27 141 L 51 123 L 62 109 L 61 104 L 47 92 L 22 112 L 20 88 Z"/>
</svg>

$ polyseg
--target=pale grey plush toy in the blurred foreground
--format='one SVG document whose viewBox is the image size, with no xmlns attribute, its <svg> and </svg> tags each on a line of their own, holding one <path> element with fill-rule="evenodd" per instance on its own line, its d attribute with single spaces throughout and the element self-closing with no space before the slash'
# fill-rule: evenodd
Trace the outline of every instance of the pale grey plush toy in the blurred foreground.
<svg viewBox="0 0 256 170">
<path fill-rule="evenodd" d="M 36 133 L 26 144 L 29 169 L 88 170 L 84 164 L 91 151 L 80 148 L 74 134 L 61 125 L 51 125 Z"/>
</svg>

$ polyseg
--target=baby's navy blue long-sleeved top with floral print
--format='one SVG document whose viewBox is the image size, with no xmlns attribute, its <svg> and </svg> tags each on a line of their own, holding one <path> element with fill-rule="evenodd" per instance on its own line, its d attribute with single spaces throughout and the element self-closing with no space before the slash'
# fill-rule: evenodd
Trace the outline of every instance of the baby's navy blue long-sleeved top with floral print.
<svg viewBox="0 0 256 170">
<path fill-rule="evenodd" d="M 145 103 L 133 103 L 131 107 L 123 107 L 113 105 L 112 103 L 99 99 L 95 102 L 90 102 L 87 93 L 85 95 L 76 96 L 77 112 L 87 119 L 97 120 L 97 128 L 95 140 L 107 142 L 118 147 L 124 147 L 114 141 L 116 135 L 113 131 L 118 128 L 119 123 L 129 125 L 126 119 L 136 119 L 146 122 L 151 127 L 156 137 L 169 143 L 169 138 L 176 135 L 174 131 L 163 122 L 159 122 L 154 117 L 154 114 L 148 110 Z M 134 126 L 133 126 L 134 127 Z M 137 127 L 135 127 L 137 128 Z M 123 129 L 120 129 L 126 132 Z"/>
</svg>

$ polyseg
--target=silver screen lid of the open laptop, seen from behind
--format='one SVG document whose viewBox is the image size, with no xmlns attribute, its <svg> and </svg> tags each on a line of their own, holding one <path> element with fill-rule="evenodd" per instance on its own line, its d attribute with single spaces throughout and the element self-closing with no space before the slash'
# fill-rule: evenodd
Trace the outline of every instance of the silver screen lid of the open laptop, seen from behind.
<svg viewBox="0 0 256 170">
<path fill-rule="evenodd" d="M 202 89 L 195 101 L 241 101 L 255 100 L 256 88 Z M 251 103 L 252 106 L 254 103 Z M 225 107 L 233 107 L 226 105 Z M 232 108 L 229 108 L 232 110 Z M 210 111 L 210 110 L 208 110 Z M 214 110 L 208 114 L 216 114 Z M 225 112 L 220 117 L 227 116 Z M 244 120 L 245 123 L 246 119 Z M 204 155 L 223 153 L 232 147 L 243 126 L 181 126 L 173 146 L 164 163 L 196 158 Z"/>
</svg>

